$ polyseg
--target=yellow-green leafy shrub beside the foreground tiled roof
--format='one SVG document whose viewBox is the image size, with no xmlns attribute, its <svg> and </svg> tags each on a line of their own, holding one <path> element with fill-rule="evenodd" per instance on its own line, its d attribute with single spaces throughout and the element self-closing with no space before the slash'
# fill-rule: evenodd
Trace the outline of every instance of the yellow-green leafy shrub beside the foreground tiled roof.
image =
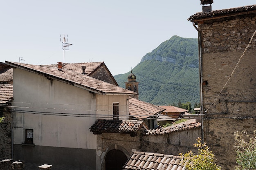
<svg viewBox="0 0 256 170">
<path fill-rule="evenodd" d="M 220 170 L 221 167 L 214 163 L 214 153 L 210 151 L 210 148 L 207 144 L 202 143 L 200 137 L 197 139 L 198 144 L 194 144 L 196 148 L 198 148 L 198 155 L 195 155 L 192 150 L 185 153 L 180 154 L 180 156 L 184 156 L 184 162 L 186 163 L 187 170 Z"/>
</svg>

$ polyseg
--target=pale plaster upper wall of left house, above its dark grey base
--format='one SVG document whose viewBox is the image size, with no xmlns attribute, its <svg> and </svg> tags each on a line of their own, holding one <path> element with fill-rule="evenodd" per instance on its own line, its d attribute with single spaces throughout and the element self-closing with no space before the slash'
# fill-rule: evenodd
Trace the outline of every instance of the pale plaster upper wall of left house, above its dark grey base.
<svg viewBox="0 0 256 170">
<path fill-rule="evenodd" d="M 69 84 L 13 69 L 14 144 L 22 144 L 25 129 L 31 128 L 36 146 L 95 149 L 96 136 L 89 130 L 96 120 L 95 96 Z M 20 110 L 33 110 L 33 114 Z"/>
</svg>

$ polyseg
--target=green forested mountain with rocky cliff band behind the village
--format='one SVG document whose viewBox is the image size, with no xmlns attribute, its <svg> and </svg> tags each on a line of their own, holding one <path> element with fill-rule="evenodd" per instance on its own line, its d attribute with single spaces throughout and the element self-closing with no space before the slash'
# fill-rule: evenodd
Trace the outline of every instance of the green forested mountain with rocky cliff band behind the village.
<svg viewBox="0 0 256 170">
<path fill-rule="evenodd" d="M 198 39 L 173 36 L 142 57 L 132 69 L 139 82 L 139 99 L 156 105 L 200 102 Z M 125 74 L 115 75 L 125 88 Z"/>
</svg>

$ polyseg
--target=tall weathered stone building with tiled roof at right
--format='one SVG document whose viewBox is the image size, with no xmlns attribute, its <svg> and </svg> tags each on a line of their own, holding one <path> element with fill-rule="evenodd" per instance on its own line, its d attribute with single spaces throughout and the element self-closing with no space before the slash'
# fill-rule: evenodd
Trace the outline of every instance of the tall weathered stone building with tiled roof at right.
<svg viewBox="0 0 256 170">
<path fill-rule="evenodd" d="M 256 129 L 256 5 L 188 20 L 198 31 L 203 139 L 223 170 L 233 170 L 234 132 Z"/>
</svg>

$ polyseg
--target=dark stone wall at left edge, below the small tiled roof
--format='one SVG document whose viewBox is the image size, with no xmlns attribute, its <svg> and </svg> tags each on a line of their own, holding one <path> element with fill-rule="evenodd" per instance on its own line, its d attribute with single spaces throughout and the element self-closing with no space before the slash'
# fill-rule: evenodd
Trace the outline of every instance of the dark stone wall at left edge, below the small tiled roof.
<svg viewBox="0 0 256 170">
<path fill-rule="evenodd" d="M 1 117 L 5 118 L 0 124 L 0 157 L 11 159 L 11 113 L 1 108 Z"/>
</svg>

